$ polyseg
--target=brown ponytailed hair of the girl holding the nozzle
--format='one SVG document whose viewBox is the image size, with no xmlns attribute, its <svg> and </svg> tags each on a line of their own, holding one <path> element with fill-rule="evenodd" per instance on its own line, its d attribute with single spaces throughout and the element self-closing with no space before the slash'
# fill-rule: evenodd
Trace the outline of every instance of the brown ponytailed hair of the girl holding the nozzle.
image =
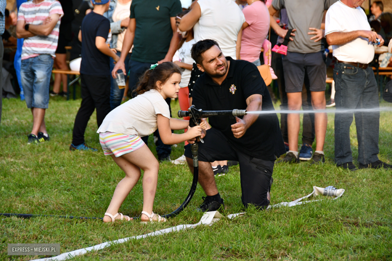
<svg viewBox="0 0 392 261">
<path fill-rule="evenodd" d="M 164 62 L 156 66 L 154 69 L 148 69 L 140 77 L 137 88 L 134 90 L 137 94 L 143 94 L 151 89 L 156 89 L 156 82 L 160 81 L 164 84 L 173 73 L 181 74 L 178 65 L 172 62 Z"/>
</svg>

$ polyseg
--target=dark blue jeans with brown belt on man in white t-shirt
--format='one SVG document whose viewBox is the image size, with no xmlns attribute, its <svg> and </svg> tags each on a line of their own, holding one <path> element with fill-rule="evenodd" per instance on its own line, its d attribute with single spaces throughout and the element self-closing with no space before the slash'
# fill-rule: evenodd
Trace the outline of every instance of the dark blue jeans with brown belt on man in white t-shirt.
<svg viewBox="0 0 392 261">
<path fill-rule="evenodd" d="M 334 69 L 336 109 L 378 108 L 378 88 L 371 67 L 360 69 L 337 63 Z M 335 114 L 335 162 L 352 162 L 350 125 L 355 116 L 358 139 L 358 162 L 369 164 L 378 160 L 380 113 L 355 112 Z"/>
</svg>

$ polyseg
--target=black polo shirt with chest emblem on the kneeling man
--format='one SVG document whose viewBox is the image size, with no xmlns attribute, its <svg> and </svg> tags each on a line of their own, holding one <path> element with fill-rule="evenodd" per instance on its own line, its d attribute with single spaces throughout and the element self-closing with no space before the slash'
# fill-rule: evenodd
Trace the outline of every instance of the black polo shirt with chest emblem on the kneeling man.
<svg viewBox="0 0 392 261">
<path fill-rule="evenodd" d="M 253 94 L 260 94 L 262 110 L 274 110 L 271 97 L 257 67 L 247 61 L 230 61 L 229 72 L 221 85 L 204 73 L 195 82 L 192 104 L 203 110 L 246 109 L 246 99 Z M 243 116 L 241 116 L 242 118 Z M 276 113 L 259 115 L 240 139 L 231 131 L 235 118 L 213 116 L 209 118 L 213 128 L 219 129 L 228 142 L 238 151 L 262 160 L 275 160 L 275 156 L 285 153 Z"/>
</svg>

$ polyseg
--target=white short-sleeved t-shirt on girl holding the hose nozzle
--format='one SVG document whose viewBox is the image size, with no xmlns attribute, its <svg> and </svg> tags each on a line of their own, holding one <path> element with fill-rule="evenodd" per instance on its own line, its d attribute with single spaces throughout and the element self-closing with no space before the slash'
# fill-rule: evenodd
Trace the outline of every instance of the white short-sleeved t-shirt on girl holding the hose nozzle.
<svg viewBox="0 0 392 261">
<path fill-rule="evenodd" d="M 152 89 L 109 112 L 97 133 L 148 136 L 158 128 L 157 114 L 170 119 L 169 105 L 157 90 Z"/>
</svg>

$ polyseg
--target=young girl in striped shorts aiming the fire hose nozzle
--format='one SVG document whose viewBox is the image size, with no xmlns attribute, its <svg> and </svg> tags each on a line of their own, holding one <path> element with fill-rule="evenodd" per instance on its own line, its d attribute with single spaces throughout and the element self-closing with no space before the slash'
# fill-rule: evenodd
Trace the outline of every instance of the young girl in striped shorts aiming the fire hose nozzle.
<svg viewBox="0 0 392 261">
<path fill-rule="evenodd" d="M 188 127 L 189 121 L 170 118 L 166 98 L 176 98 L 181 81 L 180 68 L 164 62 L 151 66 L 141 78 L 136 89 L 139 94 L 112 110 L 104 119 L 97 133 L 105 155 L 111 155 L 117 165 L 125 172 L 116 187 L 112 201 L 104 216 L 104 222 L 114 222 L 115 219 L 131 220 L 128 216 L 118 213 L 121 204 L 138 182 L 141 172 L 143 175 L 143 211 L 142 222 L 166 219 L 152 211 L 156 186 L 158 182 L 159 163 L 143 143 L 140 137 L 148 136 L 159 129 L 162 142 L 167 145 L 178 144 L 198 137 L 202 127 Z M 206 123 L 201 124 L 206 127 Z M 184 134 L 172 134 L 172 129 L 184 129 Z"/>
</svg>

